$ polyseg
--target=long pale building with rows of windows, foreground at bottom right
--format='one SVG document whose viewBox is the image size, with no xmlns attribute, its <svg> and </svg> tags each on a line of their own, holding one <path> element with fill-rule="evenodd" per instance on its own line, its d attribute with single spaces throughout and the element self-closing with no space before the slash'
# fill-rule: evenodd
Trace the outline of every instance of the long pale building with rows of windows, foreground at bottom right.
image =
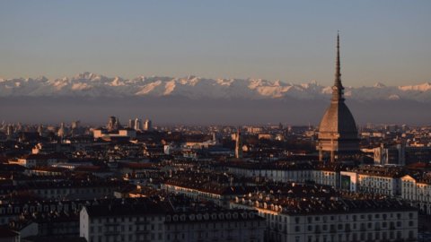
<svg viewBox="0 0 431 242">
<path fill-rule="evenodd" d="M 265 241 L 417 241 L 418 212 L 390 200 L 238 197 L 233 208 L 267 219 Z"/>
</svg>

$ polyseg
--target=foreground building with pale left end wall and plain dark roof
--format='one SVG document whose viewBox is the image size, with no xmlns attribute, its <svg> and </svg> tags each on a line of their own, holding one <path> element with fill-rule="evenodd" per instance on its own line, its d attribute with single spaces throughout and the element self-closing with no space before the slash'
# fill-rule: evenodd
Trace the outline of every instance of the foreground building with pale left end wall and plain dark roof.
<svg viewBox="0 0 431 242">
<path fill-rule="evenodd" d="M 164 241 L 163 207 L 146 199 L 85 206 L 79 230 L 88 242 Z"/>
</svg>

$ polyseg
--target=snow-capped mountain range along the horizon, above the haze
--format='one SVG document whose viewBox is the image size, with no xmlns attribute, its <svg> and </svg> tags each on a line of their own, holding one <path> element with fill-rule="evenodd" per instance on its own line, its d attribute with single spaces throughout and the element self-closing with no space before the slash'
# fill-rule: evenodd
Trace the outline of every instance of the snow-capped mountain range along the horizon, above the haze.
<svg viewBox="0 0 431 242">
<path fill-rule="evenodd" d="M 72 78 L 48 80 L 0 79 L 0 97 L 128 97 L 182 96 L 190 99 L 328 99 L 330 86 L 317 82 L 293 84 L 261 79 L 207 79 L 139 76 L 126 80 L 95 73 L 80 73 Z M 407 99 L 431 102 L 431 83 L 417 85 L 346 87 L 347 99 Z"/>
</svg>

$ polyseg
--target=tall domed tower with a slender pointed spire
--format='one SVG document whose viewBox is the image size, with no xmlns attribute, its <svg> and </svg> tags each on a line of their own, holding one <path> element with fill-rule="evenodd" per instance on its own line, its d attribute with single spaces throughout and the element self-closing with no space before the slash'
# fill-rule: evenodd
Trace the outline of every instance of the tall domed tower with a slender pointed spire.
<svg viewBox="0 0 431 242">
<path fill-rule="evenodd" d="M 335 83 L 332 87 L 330 107 L 326 109 L 321 118 L 321 125 L 319 125 L 317 150 L 321 161 L 328 156 L 331 162 L 350 159 L 359 151 L 355 118 L 344 100 L 344 87 L 341 84 L 339 63 L 339 35 L 337 35 Z"/>
</svg>

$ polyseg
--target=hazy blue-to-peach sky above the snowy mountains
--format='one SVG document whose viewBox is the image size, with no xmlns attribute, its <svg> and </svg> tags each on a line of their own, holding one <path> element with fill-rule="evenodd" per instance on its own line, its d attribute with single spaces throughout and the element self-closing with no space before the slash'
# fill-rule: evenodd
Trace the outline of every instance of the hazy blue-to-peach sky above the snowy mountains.
<svg viewBox="0 0 431 242">
<path fill-rule="evenodd" d="M 431 1 L 0 2 L 0 77 L 431 82 Z"/>
</svg>

